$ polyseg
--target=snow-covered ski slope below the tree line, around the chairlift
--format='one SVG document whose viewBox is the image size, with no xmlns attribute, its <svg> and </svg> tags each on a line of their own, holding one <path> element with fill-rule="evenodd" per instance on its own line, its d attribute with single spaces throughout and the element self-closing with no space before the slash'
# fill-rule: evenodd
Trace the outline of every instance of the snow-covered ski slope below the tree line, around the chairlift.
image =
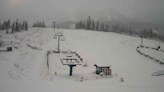
<svg viewBox="0 0 164 92">
<path fill-rule="evenodd" d="M 60 62 L 61 55 L 50 54 L 48 70 L 46 53 L 48 50 L 57 49 L 57 39 L 53 39 L 55 31 L 62 31 L 65 37 L 65 41 L 60 43 L 60 49 L 76 51 L 84 62 L 87 61 L 88 67 L 76 66 L 73 68 L 73 76 L 69 76 L 69 67 L 63 66 Z M 18 49 L 0 52 L 0 92 L 164 91 L 164 76 L 152 76 L 153 72 L 164 70 L 164 65 L 157 64 L 136 52 L 140 38 L 86 30 L 55 31 L 51 28 L 31 28 L 29 31 L 15 34 L 4 35 L 1 32 L 0 37 L 5 44 L 13 41 Z M 144 39 L 145 46 L 157 47 L 159 43 L 161 49 L 164 49 L 163 43 Z M 26 44 L 42 50 L 32 49 Z M 5 49 L 5 46 L 0 49 Z M 154 55 L 153 51 L 143 52 Z M 163 53 L 158 54 L 160 55 L 157 58 L 163 57 Z M 76 81 L 80 77 L 94 77 L 94 64 L 111 66 L 112 74 L 117 74 L 117 77 Z M 124 82 L 119 82 L 121 77 Z"/>
</svg>

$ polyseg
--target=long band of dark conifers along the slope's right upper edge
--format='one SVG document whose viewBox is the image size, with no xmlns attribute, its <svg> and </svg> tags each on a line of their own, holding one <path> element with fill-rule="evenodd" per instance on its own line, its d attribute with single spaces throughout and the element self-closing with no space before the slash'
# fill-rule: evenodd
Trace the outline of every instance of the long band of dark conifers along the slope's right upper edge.
<svg viewBox="0 0 164 92">
<path fill-rule="evenodd" d="M 116 32 L 119 34 L 128 34 L 129 36 L 139 36 L 143 38 L 164 40 L 164 36 L 153 32 L 153 29 L 143 28 L 135 29 L 123 23 L 110 23 L 95 21 L 89 16 L 86 20 L 81 20 L 75 23 L 76 29 L 85 29 L 102 32 Z"/>
</svg>

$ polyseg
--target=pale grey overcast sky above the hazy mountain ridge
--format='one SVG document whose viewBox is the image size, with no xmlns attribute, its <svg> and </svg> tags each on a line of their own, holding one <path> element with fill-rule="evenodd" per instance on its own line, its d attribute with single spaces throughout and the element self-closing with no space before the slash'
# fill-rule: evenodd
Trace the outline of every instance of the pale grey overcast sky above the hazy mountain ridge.
<svg viewBox="0 0 164 92">
<path fill-rule="evenodd" d="M 157 16 L 156 20 L 164 20 L 164 0 L 0 0 L 0 22 L 8 18 L 28 20 L 53 14 L 52 12 L 71 12 L 78 9 L 114 9 L 125 16 L 143 14 L 149 18 Z"/>
</svg>

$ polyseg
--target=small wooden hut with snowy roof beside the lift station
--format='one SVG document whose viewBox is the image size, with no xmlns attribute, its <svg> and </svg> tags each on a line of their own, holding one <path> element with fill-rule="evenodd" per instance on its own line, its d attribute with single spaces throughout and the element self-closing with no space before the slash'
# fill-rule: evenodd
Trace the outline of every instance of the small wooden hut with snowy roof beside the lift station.
<svg viewBox="0 0 164 92">
<path fill-rule="evenodd" d="M 104 66 L 104 65 L 94 65 L 96 67 L 96 74 L 100 74 L 101 72 L 104 73 L 105 75 L 111 75 L 112 70 L 110 69 L 111 66 Z"/>
</svg>

